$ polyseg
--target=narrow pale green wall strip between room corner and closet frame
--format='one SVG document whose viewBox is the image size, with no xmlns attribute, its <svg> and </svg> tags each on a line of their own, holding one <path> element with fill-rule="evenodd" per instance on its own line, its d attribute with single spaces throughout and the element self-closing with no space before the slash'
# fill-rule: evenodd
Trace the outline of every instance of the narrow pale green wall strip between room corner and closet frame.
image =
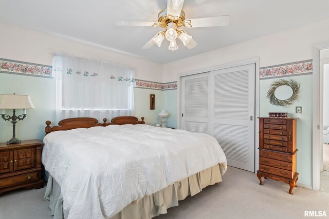
<svg viewBox="0 0 329 219">
<path fill-rule="evenodd" d="M 177 90 L 163 91 L 163 109 L 169 113 L 167 126 L 177 128 Z"/>
</svg>

